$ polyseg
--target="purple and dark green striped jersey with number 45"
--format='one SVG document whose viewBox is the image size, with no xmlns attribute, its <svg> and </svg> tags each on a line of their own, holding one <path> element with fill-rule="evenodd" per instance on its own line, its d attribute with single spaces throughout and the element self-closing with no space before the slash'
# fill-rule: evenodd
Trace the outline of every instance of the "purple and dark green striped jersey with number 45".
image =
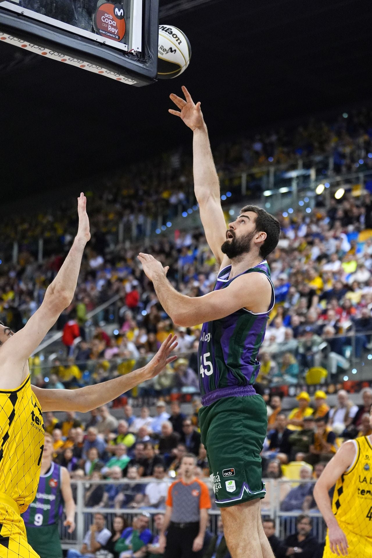
<svg viewBox="0 0 372 558">
<path fill-rule="evenodd" d="M 210 405 L 221 397 L 253 395 L 252 384 L 260 363 L 259 348 L 264 339 L 269 313 L 275 303 L 274 287 L 266 260 L 229 279 L 231 265 L 218 274 L 214 290 L 228 287 L 236 277 L 247 273 L 264 273 L 272 286 L 267 312 L 254 314 L 241 308 L 219 320 L 202 326 L 198 349 L 200 363 L 199 387 L 202 405 Z"/>
</svg>

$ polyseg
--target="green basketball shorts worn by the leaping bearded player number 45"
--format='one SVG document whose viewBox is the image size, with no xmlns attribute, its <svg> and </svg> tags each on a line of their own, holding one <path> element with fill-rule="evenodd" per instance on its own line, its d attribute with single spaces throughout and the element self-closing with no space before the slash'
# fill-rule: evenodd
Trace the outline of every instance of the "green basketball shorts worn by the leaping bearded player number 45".
<svg viewBox="0 0 372 558">
<path fill-rule="evenodd" d="M 267 408 L 260 395 L 223 397 L 199 410 L 201 441 L 220 508 L 264 498 L 260 453 Z"/>
</svg>

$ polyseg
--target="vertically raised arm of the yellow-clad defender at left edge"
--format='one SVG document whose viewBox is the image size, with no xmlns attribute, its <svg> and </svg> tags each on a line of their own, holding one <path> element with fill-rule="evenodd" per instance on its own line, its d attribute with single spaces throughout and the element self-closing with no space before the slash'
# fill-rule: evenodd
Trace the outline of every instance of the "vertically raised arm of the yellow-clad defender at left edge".
<svg viewBox="0 0 372 558">
<path fill-rule="evenodd" d="M 61 312 L 71 304 L 80 271 L 85 244 L 90 239 L 89 219 L 86 214 L 86 198 L 78 198 L 79 228 L 73 246 L 46 290 L 40 308 L 31 316 L 24 328 L 13 334 L 9 330 L 6 342 L 0 348 L 0 388 L 13 389 L 26 378 L 28 357 L 44 339 Z M 6 328 L 8 329 L 8 328 Z M 9 373 L 11 371 L 11 374 Z"/>
</svg>

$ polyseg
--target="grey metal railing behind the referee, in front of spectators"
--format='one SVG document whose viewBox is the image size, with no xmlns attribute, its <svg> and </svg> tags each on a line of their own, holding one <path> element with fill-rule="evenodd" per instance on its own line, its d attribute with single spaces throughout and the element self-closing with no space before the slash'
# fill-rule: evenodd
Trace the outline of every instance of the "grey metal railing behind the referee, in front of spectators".
<svg viewBox="0 0 372 558">
<path fill-rule="evenodd" d="M 167 478 L 167 483 L 170 485 L 173 482 L 174 478 Z M 207 527 L 212 533 L 217 532 L 217 518 L 220 515 L 219 509 L 216 507 L 214 494 L 212 491 L 212 484 L 210 479 L 207 477 L 201 478 L 202 482 L 207 485 L 209 489 L 212 508 L 209 510 L 210 516 L 210 525 Z M 81 544 L 83 543 L 83 538 L 86 532 L 89 530 L 91 523 L 93 522 L 94 513 L 100 512 L 105 514 L 106 517 L 106 527 L 111 530 L 113 525 L 113 519 L 115 515 L 121 515 L 125 518 L 127 525 L 131 525 L 133 521 L 133 517 L 136 516 L 138 513 L 147 512 L 149 515 L 149 529 L 154 533 L 154 525 L 153 525 L 153 516 L 157 513 L 164 513 L 165 512 L 165 504 L 163 503 L 159 507 L 151 507 L 151 506 L 137 506 L 131 507 L 130 505 L 123 508 L 114 508 L 113 506 L 109 507 L 88 507 L 85 505 L 85 493 L 92 485 L 99 485 L 99 484 L 117 484 L 117 485 L 148 485 L 149 483 L 164 483 L 165 480 L 156 480 L 156 479 L 137 479 L 137 480 L 128 480 L 126 478 L 118 481 L 113 480 L 94 480 L 91 482 L 90 480 L 71 480 L 71 485 L 73 487 L 73 494 L 76 502 L 76 529 L 74 533 L 68 533 L 67 528 L 63 526 L 63 521 L 65 516 L 62 516 L 59 530 L 60 530 L 60 537 L 62 542 L 62 547 L 65 549 L 67 548 L 80 548 Z M 283 497 L 281 494 L 289 493 L 291 488 L 298 486 L 299 484 L 315 484 L 315 480 L 289 480 L 289 479 L 264 479 L 265 487 L 267 489 L 267 497 L 263 498 L 261 501 L 261 515 L 262 518 L 273 518 L 276 519 L 276 534 L 282 540 L 286 538 L 288 535 L 291 535 L 296 530 L 296 517 L 300 513 L 307 513 L 312 518 L 313 523 L 313 535 L 317 538 L 319 542 L 325 540 L 326 535 L 326 526 L 321 513 L 318 511 L 316 507 L 313 507 L 310 510 L 307 509 L 296 509 L 293 511 L 281 511 L 281 503 L 283 501 Z M 285 488 L 283 491 L 282 487 Z"/>
</svg>

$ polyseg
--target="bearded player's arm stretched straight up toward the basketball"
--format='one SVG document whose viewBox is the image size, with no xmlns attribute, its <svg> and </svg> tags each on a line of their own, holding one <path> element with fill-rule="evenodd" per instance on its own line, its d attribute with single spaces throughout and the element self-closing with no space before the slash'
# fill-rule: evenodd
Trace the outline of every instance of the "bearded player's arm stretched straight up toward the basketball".
<svg viewBox="0 0 372 558">
<path fill-rule="evenodd" d="M 226 240 L 226 223 L 221 207 L 220 182 L 211 152 L 208 131 L 200 109 L 200 102 L 194 103 L 190 93 L 182 86 L 185 99 L 171 94 L 173 103 L 180 109 L 169 112 L 182 118 L 186 126 L 194 132 L 194 190 L 199 203 L 200 218 L 204 227 L 207 243 L 219 264 L 227 265 L 228 258 L 221 251 Z"/>
</svg>

